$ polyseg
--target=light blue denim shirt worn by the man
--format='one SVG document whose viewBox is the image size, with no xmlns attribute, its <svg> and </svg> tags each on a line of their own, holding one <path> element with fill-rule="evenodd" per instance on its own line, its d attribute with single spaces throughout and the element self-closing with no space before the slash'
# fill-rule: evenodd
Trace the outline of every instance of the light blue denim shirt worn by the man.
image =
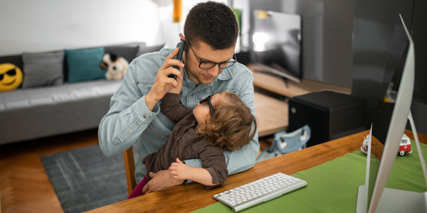
<svg viewBox="0 0 427 213">
<path fill-rule="evenodd" d="M 135 179 L 141 181 L 145 175 L 142 158 L 154 153 L 167 142 L 175 124 L 160 111 L 160 101 L 152 111 L 147 109 L 145 95 L 152 88 L 157 70 L 162 67 L 166 57 L 174 49 L 162 49 L 157 53 L 148 53 L 133 60 L 122 80 L 122 85 L 112 96 L 110 111 L 102 118 L 98 138 L 102 152 L 107 155 L 120 154 L 137 143 L 137 163 Z M 218 75 L 210 84 L 197 87 L 189 80 L 184 69 L 184 81 L 181 90 L 181 104 L 189 108 L 211 94 L 222 91 L 234 92 L 251 109 L 255 116 L 253 104 L 253 76 L 248 68 L 236 63 Z M 223 151 L 226 157 L 228 174 L 248 170 L 255 165 L 255 158 L 260 145 L 258 131 L 248 146 L 241 150 Z M 185 160 L 191 167 L 202 168 L 200 159 Z"/>
</svg>

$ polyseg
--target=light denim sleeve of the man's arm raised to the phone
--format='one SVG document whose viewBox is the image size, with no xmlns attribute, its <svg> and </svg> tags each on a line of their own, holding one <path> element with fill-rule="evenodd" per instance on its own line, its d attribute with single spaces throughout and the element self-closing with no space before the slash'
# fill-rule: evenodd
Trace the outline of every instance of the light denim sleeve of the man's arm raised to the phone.
<svg viewBox="0 0 427 213">
<path fill-rule="evenodd" d="M 135 63 L 127 72 L 117 92 L 112 96 L 110 110 L 100 121 L 98 139 L 102 152 L 107 155 L 122 153 L 132 146 L 147 128 L 160 107 L 149 110 L 135 80 Z"/>
</svg>

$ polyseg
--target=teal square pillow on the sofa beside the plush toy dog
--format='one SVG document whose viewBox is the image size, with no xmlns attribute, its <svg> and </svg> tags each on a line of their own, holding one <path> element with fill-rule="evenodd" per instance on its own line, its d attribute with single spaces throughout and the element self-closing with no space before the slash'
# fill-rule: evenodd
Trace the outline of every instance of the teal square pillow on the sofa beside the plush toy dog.
<svg viewBox="0 0 427 213">
<path fill-rule="evenodd" d="M 65 50 L 68 82 L 105 79 L 105 70 L 100 67 L 103 56 L 104 48 Z"/>
</svg>

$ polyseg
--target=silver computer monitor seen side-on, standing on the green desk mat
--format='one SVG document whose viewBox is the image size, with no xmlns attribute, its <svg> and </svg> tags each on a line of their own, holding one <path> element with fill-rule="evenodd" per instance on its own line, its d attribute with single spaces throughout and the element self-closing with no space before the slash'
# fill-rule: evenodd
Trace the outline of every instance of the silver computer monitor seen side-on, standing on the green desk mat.
<svg viewBox="0 0 427 213">
<path fill-rule="evenodd" d="M 426 193 L 385 187 L 408 121 L 413 94 L 414 58 L 411 35 L 399 14 L 371 126 L 370 139 L 383 143 L 384 150 L 377 171 L 369 170 L 368 158 L 367 173 L 369 175 L 367 175 L 367 184 L 359 187 L 357 212 L 426 210 Z M 372 165 L 370 167 L 373 168 Z M 420 197 L 423 202 L 420 202 Z"/>
</svg>

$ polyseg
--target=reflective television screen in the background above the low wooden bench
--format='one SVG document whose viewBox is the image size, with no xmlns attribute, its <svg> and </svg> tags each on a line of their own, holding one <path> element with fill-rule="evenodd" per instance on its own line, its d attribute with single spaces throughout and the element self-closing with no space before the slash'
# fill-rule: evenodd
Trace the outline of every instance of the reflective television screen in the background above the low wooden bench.
<svg viewBox="0 0 427 213">
<path fill-rule="evenodd" d="M 300 82 L 301 16 L 253 11 L 253 62 L 268 72 Z"/>
</svg>

